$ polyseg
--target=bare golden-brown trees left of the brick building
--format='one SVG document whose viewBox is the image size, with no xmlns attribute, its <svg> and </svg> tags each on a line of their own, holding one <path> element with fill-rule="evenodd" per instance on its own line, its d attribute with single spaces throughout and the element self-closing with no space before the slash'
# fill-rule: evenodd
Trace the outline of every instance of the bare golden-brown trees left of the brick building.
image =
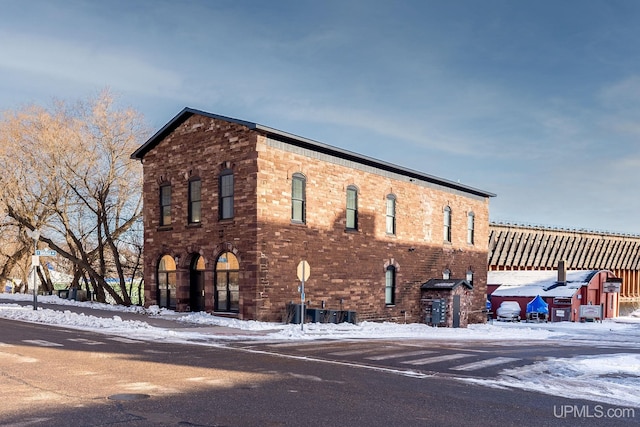
<svg viewBox="0 0 640 427">
<path fill-rule="evenodd" d="M 140 260 L 133 266 L 124 260 L 141 256 L 135 235 L 142 215 L 142 170 L 130 154 L 147 135 L 141 115 L 117 109 L 108 91 L 73 105 L 5 113 L 0 227 L 23 246 L 8 259 L 31 254 L 26 232 L 37 229 L 40 244 L 70 262 L 74 284 L 85 284 L 99 301 L 109 295 L 130 305 L 127 283 L 139 274 Z"/>
</svg>

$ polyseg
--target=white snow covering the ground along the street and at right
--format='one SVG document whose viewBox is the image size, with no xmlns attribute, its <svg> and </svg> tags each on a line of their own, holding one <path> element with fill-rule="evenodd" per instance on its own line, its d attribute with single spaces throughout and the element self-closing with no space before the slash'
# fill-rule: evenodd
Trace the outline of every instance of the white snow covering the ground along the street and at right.
<svg viewBox="0 0 640 427">
<path fill-rule="evenodd" d="M 120 335 L 140 340 L 191 342 L 220 345 L 225 340 L 314 340 L 393 338 L 445 341 L 517 342 L 545 340 L 610 348 L 608 354 L 573 358 L 550 358 L 532 365 L 505 369 L 493 379 L 462 379 L 489 387 L 521 388 L 598 404 L 622 408 L 640 408 L 640 310 L 630 316 L 602 323 L 503 323 L 470 325 L 468 328 L 433 328 L 424 324 L 361 322 L 353 324 L 285 325 L 241 321 L 205 313 L 176 313 L 165 309 L 119 307 L 90 302 L 63 300 L 57 296 L 40 296 L 40 303 L 75 305 L 113 311 L 112 317 L 89 313 L 58 311 L 39 306 L 22 306 L 18 301 L 31 301 L 24 294 L 2 294 L 0 317 L 27 322 L 59 325 L 69 328 Z M 11 300 L 15 302 L 11 302 Z M 136 319 L 123 319 L 135 313 Z M 153 319 L 169 327 L 154 326 Z M 158 322 L 155 322 L 158 323 Z M 175 326 L 173 326 L 175 325 Z M 202 327 L 189 327 L 198 325 Z M 211 327 L 208 327 L 211 326 Z M 218 328 L 216 328 L 218 327 Z M 635 409 L 634 409 L 635 410 Z M 640 410 L 638 417 L 640 417 Z"/>
</svg>

